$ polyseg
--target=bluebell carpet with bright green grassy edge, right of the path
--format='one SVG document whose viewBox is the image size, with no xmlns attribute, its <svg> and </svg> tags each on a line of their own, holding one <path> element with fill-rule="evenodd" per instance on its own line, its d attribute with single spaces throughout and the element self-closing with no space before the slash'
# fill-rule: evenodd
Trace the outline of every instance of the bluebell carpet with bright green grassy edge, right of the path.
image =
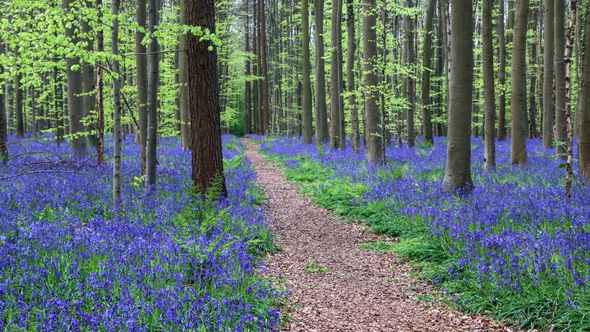
<svg viewBox="0 0 590 332">
<path fill-rule="evenodd" d="M 363 246 L 417 261 L 461 309 L 520 327 L 590 328 L 590 192 L 574 182 L 564 199 L 563 161 L 539 141 L 527 142 L 525 167 L 511 166 L 509 142 L 500 142 L 496 170 L 485 171 L 482 142 L 473 139 L 474 188 L 457 195 L 441 187 L 444 139 L 388 147 L 388 164 L 374 166 L 350 148 L 253 138 L 316 204 L 400 237 L 387 248 Z"/>
</svg>

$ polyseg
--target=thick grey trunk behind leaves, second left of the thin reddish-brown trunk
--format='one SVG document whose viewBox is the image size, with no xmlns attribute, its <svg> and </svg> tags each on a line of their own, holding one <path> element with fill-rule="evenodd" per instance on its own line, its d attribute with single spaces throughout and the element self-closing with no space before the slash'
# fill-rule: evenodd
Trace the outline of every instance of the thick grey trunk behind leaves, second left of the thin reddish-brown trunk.
<svg viewBox="0 0 590 332">
<path fill-rule="evenodd" d="M 67 20 L 76 20 L 77 13 L 72 13 L 70 4 L 75 0 L 62 0 L 62 6 L 67 15 Z M 73 22 L 72 22 L 73 23 Z M 65 37 L 70 43 L 77 44 L 79 37 L 75 33 L 76 27 L 65 27 Z M 67 73 L 67 110 L 69 113 L 68 126 L 70 127 L 71 154 L 72 157 L 83 157 L 88 153 L 88 138 L 84 135 L 84 105 L 82 104 L 82 72 L 80 61 L 74 55 L 67 56 L 65 60 Z"/>
</svg>

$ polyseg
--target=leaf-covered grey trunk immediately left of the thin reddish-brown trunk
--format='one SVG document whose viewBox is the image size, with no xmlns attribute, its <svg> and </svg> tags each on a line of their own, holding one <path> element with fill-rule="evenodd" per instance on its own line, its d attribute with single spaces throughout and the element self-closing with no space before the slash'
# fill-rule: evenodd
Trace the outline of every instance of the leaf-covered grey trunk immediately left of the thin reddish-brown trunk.
<svg viewBox="0 0 590 332">
<path fill-rule="evenodd" d="M 93 2 L 91 0 L 84 1 L 86 8 L 92 8 Z M 82 33 L 86 34 L 85 39 L 86 47 L 84 51 L 88 53 L 92 53 L 94 50 L 94 39 L 91 36 L 92 30 L 89 25 L 88 20 L 82 20 Z M 93 111 L 96 102 L 96 98 L 94 96 L 96 79 L 94 77 L 94 65 L 90 64 L 89 62 L 82 62 L 81 63 L 81 70 L 82 70 L 82 91 L 84 91 L 84 95 L 82 96 L 82 107 L 84 107 L 84 118 L 86 121 L 86 131 L 88 132 L 88 142 L 89 147 L 96 147 L 96 123 L 93 121 Z"/>
</svg>

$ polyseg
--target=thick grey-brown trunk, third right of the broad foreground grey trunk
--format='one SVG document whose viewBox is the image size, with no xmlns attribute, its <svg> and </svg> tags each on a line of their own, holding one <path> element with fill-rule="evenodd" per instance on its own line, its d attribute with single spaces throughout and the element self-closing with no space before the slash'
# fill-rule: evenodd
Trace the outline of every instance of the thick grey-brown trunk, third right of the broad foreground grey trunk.
<svg viewBox="0 0 590 332">
<path fill-rule="evenodd" d="M 527 21 L 528 0 L 516 0 L 512 48 L 511 83 L 511 164 L 527 162 Z"/>
</svg>

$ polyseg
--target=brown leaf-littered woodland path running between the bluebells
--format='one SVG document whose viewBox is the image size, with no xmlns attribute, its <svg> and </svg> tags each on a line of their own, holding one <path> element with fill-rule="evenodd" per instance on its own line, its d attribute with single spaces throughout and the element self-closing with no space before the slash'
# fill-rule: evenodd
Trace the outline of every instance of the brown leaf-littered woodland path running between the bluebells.
<svg viewBox="0 0 590 332">
<path fill-rule="evenodd" d="M 268 274 L 284 278 L 292 292 L 285 331 L 509 331 L 491 319 L 417 300 L 426 285 L 410 276 L 407 263 L 359 247 L 383 237 L 363 225 L 337 222 L 332 212 L 297 194 L 257 145 L 243 142 L 284 249 L 270 257 Z M 310 273 L 314 267 L 329 272 Z"/>
</svg>

